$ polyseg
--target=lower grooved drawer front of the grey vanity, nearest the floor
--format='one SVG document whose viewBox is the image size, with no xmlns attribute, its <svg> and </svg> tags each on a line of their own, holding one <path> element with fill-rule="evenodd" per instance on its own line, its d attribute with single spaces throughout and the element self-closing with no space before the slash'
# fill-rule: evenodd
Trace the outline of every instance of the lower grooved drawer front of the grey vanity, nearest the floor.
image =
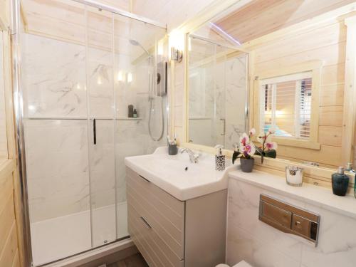
<svg viewBox="0 0 356 267">
<path fill-rule="evenodd" d="M 129 231 L 132 240 L 151 267 L 183 267 L 180 260 L 159 238 L 144 216 L 131 205 L 127 206 Z"/>
</svg>

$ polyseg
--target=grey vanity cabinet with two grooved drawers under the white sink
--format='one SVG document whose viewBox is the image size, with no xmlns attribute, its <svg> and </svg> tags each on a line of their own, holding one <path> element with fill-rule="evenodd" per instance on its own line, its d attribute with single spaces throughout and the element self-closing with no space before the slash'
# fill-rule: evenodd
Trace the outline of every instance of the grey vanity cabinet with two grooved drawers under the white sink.
<svg viewBox="0 0 356 267">
<path fill-rule="evenodd" d="M 179 201 L 127 168 L 128 229 L 150 267 L 225 262 L 227 190 Z"/>
</svg>

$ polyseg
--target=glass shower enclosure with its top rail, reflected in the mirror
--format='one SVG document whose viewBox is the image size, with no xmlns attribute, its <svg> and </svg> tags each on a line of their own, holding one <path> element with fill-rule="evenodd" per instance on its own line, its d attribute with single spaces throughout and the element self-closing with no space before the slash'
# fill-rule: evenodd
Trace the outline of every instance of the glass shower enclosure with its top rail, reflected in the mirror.
<svg viewBox="0 0 356 267">
<path fill-rule="evenodd" d="M 189 35 L 189 142 L 214 147 L 246 132 L 248 54 Z"/>
</svg>

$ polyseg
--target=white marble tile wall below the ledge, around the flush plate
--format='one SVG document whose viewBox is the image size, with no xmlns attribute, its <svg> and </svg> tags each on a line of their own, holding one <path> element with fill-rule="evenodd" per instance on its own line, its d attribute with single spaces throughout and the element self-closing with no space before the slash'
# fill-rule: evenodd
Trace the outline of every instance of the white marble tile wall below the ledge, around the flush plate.
<svg viewBox="0 0 356 267">
<path fill-rule="evenodd" d="M 319 214 L 318 247 L 259 221 L 262 193 Z M 355 219 L 343 214 L 229 179 L 226 261 L 233 265 L 245 260 L 255 267 L 355 266 L 355 224 Z"/>
</svg>

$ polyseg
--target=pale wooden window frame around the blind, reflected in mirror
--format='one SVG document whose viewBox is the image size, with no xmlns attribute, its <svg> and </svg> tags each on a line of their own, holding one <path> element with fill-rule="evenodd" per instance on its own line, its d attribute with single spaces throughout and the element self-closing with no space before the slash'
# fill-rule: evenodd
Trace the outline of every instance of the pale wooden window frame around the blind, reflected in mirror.
<svg viewBox="0 0 356 267">
<path fill-rule="evenodd" d="M 253 125 L 256 132 L 261 132 L 261 80 L 276 78 L 283 75 L 293 75 L 297 73 L 310 72 L 312 78 L 312 102 L 310 111 L 310 137 L 308 140 L 300 140 L 295 137 L 273 136 L 273 141 L 278 145 L 287 147 L 303 147 L 313 150 L 320 150 L 318 142 L 319 135 L 319 88 L 320 75 L 323 67 L 323 61 L 308 61 L 287 68 L 278 68 L 275 70 L 266 70 L 256 73 L 253 80 Z M 257 139 L 254 139 L 257 141 Z"/>
</svg>

